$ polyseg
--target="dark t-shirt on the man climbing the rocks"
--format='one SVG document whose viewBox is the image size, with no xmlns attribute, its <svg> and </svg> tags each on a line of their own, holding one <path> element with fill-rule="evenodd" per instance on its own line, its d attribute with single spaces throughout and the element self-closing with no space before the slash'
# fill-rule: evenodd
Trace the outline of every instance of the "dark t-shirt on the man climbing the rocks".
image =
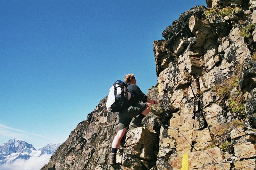
<svg viewBox="0 0 256 170">
<path fill-rule="evenodd" d="M 127 90 L 132 94 L 129 100 L 129 106 L 135 106 L 138 102 L 147 102 L 147 96 L 140 90 L 139 86 L 136 84 L 129 84 Z"/>
</svg>

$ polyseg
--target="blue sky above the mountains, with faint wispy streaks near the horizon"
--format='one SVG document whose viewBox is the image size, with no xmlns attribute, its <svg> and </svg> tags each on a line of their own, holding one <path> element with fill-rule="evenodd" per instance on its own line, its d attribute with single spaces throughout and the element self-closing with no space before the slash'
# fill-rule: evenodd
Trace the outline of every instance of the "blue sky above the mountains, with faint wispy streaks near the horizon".
<svg viewBox="0 0 256 170">
<path fill-rule="evenodd" d="M 157 83 L 153 41 L 205 0 L 1 0 L 0 145 L 63 143 L 133 73 Z"/>
</svg>

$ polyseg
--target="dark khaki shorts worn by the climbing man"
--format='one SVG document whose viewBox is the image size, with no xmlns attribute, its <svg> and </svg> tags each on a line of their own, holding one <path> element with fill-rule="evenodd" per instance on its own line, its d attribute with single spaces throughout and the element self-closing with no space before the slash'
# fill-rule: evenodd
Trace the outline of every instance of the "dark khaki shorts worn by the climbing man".
<svg viewBox="0 0 256 170">
<path fill-rule="evenodd" d="M 139 115 L 148 105 L 146 103 L 138 103 L 135 106 L 129 106 L 119 112 L 118 130 L 129 127 L 132 118 Z"/>
</svg>

